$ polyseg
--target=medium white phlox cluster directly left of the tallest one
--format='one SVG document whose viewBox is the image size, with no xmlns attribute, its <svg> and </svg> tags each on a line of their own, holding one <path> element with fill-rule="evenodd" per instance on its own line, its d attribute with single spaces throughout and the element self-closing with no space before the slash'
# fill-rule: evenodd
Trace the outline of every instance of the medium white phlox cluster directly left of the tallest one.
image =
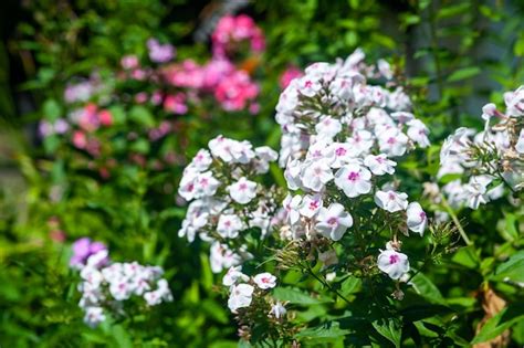
<svg viewBox="0 0 524 348">
<path fill-rule="evenodd" d="M 265 236 L 271 226 L 274 203 L 255 176 L 269 171 L 277 154 L 268 146 L 256 147 L 219 136 L 201 149 L 184 171 L 179 194 L 191 201 L 179 236 L 192 242 L 198 234 L 213 242 L 211 267 L 218 273 L 249 257 L 241 245 L 232 251 L 227 242 L 238 240 L 249 228 Z"/>
</svg>

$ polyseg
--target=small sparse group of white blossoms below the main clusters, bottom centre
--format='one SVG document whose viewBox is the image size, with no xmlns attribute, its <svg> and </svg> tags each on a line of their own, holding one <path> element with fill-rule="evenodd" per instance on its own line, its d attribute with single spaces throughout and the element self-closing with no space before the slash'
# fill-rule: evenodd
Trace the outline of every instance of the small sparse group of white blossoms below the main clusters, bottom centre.
<svg viewBox="0 0 524 348">
<path fill-rule="evenodd" d="M 228 307 L 232 313 L 239 308 L 249 307 L 253 296 L 263 296 L 266 291 L 276 286 L 276 277 L 271 273 L 259 273 L 253 277 L 242 273 L 241 266 L 229 268 L 222 278 L 222 284 L 229 286 Z M 281 303 L 275 303 L 269 315 L 280 318 L 285 314 L 285 308 Z"/>
</svg>

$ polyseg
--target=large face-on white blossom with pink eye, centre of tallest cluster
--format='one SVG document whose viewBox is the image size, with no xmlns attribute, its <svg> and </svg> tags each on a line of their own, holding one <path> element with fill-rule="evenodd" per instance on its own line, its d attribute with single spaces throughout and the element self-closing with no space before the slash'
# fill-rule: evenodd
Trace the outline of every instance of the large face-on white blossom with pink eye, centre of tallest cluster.
<svg viewBox="0 0 524 348">
<path fill-rule="evenodd" d="M 335 175 L 335 184 L 349 198 L 371 191 L 371 172 L 360 165 L 346 165 Z"/>
</svg>

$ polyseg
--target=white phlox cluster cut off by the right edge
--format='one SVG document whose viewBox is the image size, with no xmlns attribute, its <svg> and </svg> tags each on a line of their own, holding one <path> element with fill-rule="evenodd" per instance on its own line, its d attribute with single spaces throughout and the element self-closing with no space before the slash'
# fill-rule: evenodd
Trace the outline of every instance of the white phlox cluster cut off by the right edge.
<svg viewBox="0 0 524 348">
<path fill-rule="evenodd" d="M 515 191 L 524 187 L 524 86 L 505 93 L 504 101 L 505 114 L 492 103 L 484 105 L 484 130 L 459 128 L 442 145 L 438 178 L 468 178 L 467 182 L 459 178 L 442 188 L 452 207 L 478 209 L 501 198 L 504 182 L 500 180 Z M 496 119 L 494 125 L 492 119 Z"/>
</svg>

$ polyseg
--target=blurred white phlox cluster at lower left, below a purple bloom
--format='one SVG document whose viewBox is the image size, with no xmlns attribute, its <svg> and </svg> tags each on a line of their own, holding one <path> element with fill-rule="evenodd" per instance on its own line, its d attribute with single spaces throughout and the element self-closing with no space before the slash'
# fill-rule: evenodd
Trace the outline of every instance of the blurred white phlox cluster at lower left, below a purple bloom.
<svg viewBox="0 0 524 348">
<path fill-rule="evenodd" d="M 143 297 L 148 306 L 172 300 L 160 267 L 136 262 L 103 265 L 101 260 L 107 260 L 107 250 L 90 256 L 80 270 L 82 298 L 78 305 L 85 312 L 87 325 L 94 327 L 104 321 L 106 310 L 123 314 L 123 302 L 133 296 Z"/>
</svg>

